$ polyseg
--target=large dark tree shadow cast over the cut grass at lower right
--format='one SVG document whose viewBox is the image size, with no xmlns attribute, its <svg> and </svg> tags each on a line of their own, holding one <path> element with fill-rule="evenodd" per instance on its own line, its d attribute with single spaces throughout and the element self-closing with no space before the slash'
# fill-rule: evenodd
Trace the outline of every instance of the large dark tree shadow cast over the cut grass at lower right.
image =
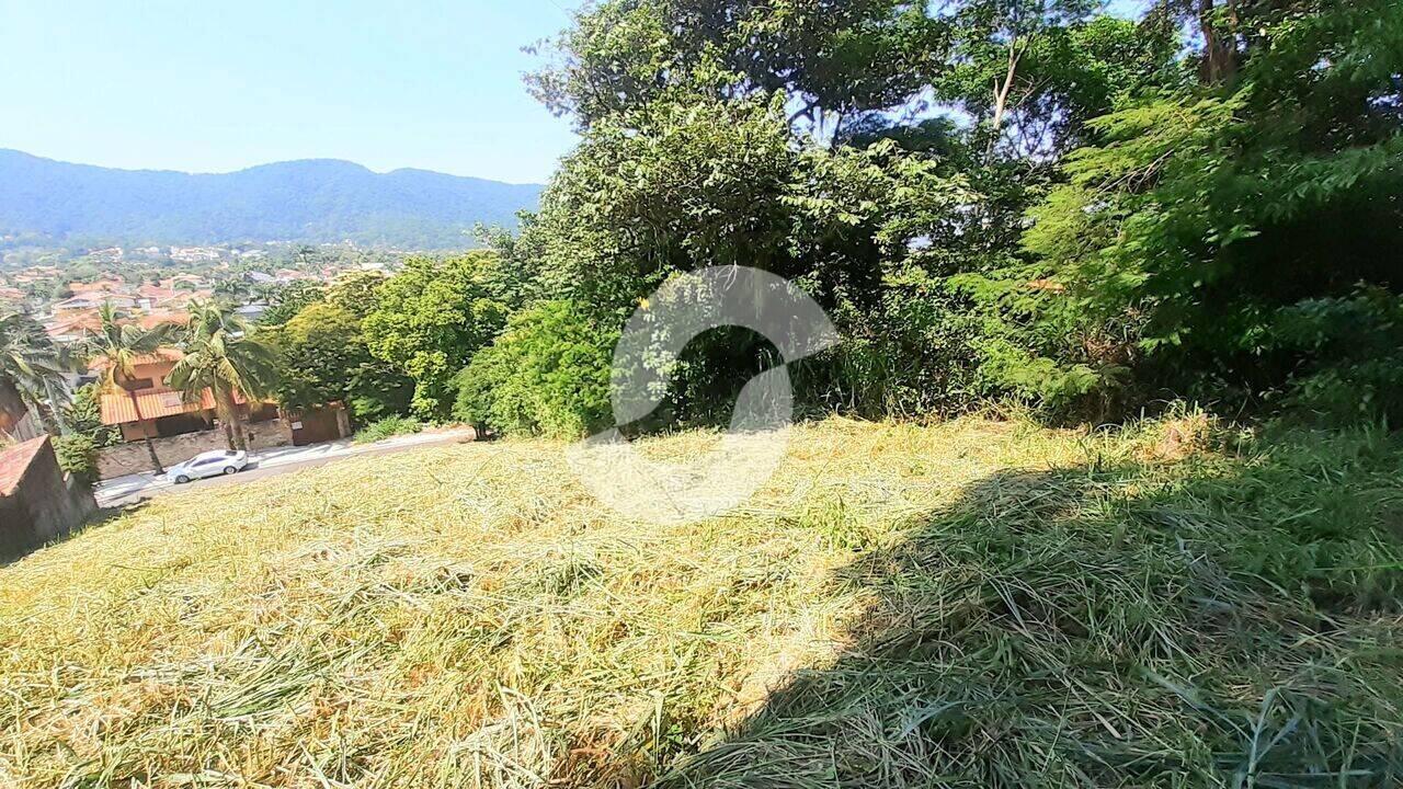
<svg viewBox="0 0 1403 789">
<path fill-rule="evenodd" d="M 985 479 L 839 573 L 874 599 L 846 654 L 659 783 L 1400 785 L 1403 452 L 1371 442 Z"/>
</svg>

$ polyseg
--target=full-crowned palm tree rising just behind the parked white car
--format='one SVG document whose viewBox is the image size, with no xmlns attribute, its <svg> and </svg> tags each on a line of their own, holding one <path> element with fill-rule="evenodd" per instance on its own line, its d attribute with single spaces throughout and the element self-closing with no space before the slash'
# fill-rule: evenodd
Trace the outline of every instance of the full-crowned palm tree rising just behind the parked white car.
<svg viewBox="0 0 1403 789">
<path fill-rule="evenodd" d="M 215 411 L 224 423 L 230 449 L 248 449 L 244 416 L 236 396 L 246 400 L 269 394 L 276 385 L 272 348 L 248 334 L 248 323 L 215 302 L 191 302 L 189 323 L 181 338 L 185 355 L 175 362 L 167 383 L 185 399 L 215 396 Z"/>
</svg>

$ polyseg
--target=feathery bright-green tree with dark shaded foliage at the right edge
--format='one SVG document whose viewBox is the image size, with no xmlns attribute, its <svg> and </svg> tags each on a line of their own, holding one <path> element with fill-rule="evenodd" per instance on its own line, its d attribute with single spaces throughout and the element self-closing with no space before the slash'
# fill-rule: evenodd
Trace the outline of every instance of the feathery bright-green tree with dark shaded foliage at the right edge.
<svg viewBox="0 0 1403 789">
<path fill-rule="evenodd" d="M 1027 306 L 1010 334 L 1044 379 L 1110 355 L 1148 389 L 1253 399 L 1352 364 L 1350 344 L 1327 341 L 1348 327 L 1338 316 L 1381 303 L 1358 299 L 1361 284 L 1396 293 L 1397 265 L 1379 250 L 1403 244 L 1403 8 L 1240 11 L 1250 42 L 1219 53 L 1216 79 L 1090 122 L 1097 145 L 1031 212 L 1034 265 L 978 284 L 1056 285 L 1017 296 Z M 1390 309 L 1375 314 L 1388 324 Z M 1317 337 L 1302 343 L 1310 316 Z"/>
</svg>

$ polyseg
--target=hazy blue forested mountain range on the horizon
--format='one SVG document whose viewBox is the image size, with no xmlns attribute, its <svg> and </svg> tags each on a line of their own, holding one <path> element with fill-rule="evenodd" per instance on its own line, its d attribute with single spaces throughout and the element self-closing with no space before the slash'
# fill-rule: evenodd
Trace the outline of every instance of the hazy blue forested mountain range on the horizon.
<svg viewBox="0 0 1403 789">
<path fill-rule="evenodd" d="M 540 191 L 429 170 L 375 173 L 335 159 L 194 174 L 0 149 L 0 236 L 41 246 L 348 240 L 452 248 L 471 246 L 478 222 L 515 226 Z"/>
</svg>

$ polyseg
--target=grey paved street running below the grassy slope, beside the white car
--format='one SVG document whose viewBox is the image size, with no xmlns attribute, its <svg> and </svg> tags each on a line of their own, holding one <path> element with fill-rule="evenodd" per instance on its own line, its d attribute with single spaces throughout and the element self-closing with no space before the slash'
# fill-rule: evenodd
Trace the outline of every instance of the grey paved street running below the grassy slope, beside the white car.
<svg viewBox="0 0 1403 789">
<path fill-rule="evenodd" d="M 471 437 L 471 428 L 464 428 L 438 432 L 418 432 L 414 435 L 397 435 L 375 444 L 352 444 L 349 438 L 342 438 L 340 441 L 328 441 L 325 444 L 313 444 L 309 446 L 278 446 L 274 449 L 253 452 L 248 466 L 237 475 L 227 477 L 217 476 L 194 480 L 177 487 L 175 483 L 164 476 L 143 472 L 139 475 L 128 475 L 125 477 L 114 477 L 100 482 L 93 489 L 93 496 L 97 498 L 98 507 L 125 507 L 143 498 L 171 493 L 173 490 L 191 490 L 196 487 L 215 487 L 222 484 L 244 484 L 255 479 L 285 475 L 297 469 L 321 466 L 341 458 L 386 455 L 390 452 L 403 452 L 404 449 L 411 449 L 414 446 L 431 446 L 435 444 L 457 444 L 462 441 L 470 441 Z"/>
</svg>

